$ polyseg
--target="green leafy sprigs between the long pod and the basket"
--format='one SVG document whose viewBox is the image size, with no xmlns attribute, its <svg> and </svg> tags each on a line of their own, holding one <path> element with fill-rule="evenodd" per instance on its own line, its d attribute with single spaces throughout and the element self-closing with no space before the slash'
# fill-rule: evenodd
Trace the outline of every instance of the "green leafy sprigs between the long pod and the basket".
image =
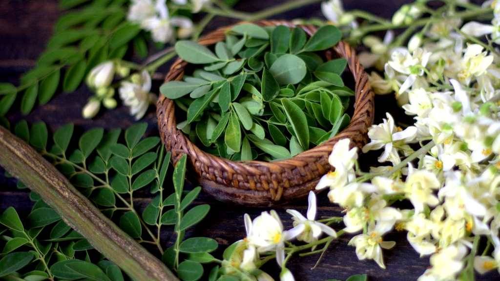
<svg viewBox="0 0 500 281">
<path fill-rule="evenodd" d="M 121 229 L 140 243 L 154 245 L 182 280 L 197 280 L 203 274 L 201 263 L 216 260 L 209 252 L 218 244 L 206 237 L 185 239 L 184 234 L 206 216 L 210 206 L 190 207 L 201 188 L 184 190 L 185 156 L 173 171 L 173 192 L 167 192 L 170 152 L 164 152 L 157 136 L 143 137 L 146 128 L 146 123 L 134 124 L 124 133 L 121 129 L 105 132 L 93 128 L 76 137 L 73 124 L 66 124 L 54 131 L 50 141 L 45 123 L 29 126 L 20 121 L 14 132 L 51 161 Z M 146 187 L 155 197 L 140 212 L 134 198 Z M 176 239 L 164 249 L 160 232 L 168 225 L 173 225 Z"/>
</svg>

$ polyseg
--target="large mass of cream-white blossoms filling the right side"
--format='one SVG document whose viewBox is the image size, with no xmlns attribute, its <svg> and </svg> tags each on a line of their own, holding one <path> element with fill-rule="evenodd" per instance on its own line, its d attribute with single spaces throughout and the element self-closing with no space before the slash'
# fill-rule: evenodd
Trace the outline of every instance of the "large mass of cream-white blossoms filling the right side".
<svg viewBox="0 0 500 281">
<path fill-rule="evenodd" d="M 353 168 L 355 148 L 339 141 L 330 155 L 334 171 L 316 187 L 329 186 L 330 201 L 345 208 L 346 232 L 362 231 L 349 241 L 359 259 L 384 267 L 381 249 L 394 243 L 382 235 L 395 227 L 407 231 L 421 256 L 431 255 L 420 281 L 454 280 L 472 268 L 470 260 L 479 273 L 499 268 L 500 72 L 491 44 L 498 43 L 500 5 L 486 5 L 494 14 L 491 25 L 471 21 L 459 28 L 461 21 L 450 17 L 414 34 L 407 46 L 389 44 L 390 33 L 383 41 L 364 37 L 371 52 L 363 63 L 384 69 L 383 77 L 371 73 L 372 87 L 380 94 L 394 92 L 414 123 L 400 128 L 386 113 L 369 129 L 362 151 L 383 149 L 378 161 L 391 164 L 369 173 Z M 420 15 L 421 6 L 410 4 L 392 23 L 408 24 Z M 470 37 L 486 34 L 489 44 Z M 402 199 L 412 208 L 390 206 Z M 478 253 L 480 236 L 492 252 Z"/>
</svg>

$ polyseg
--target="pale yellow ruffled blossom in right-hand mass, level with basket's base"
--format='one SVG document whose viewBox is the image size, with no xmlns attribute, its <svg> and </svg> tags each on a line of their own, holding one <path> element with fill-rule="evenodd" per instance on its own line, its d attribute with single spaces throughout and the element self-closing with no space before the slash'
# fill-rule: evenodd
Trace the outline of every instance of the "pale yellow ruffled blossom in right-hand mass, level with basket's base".
<svg viewBox="0 0 500 281">
<path fill-rule="evenodd" d="M 441 186 L 436 175 L 425 170 L 416 170 L 406 178 L 404 192 L 415 208 L 415 213 L 423 211 L 425 205 L 435 206 L 439 200 L 432 190 Z"/>
</svg>

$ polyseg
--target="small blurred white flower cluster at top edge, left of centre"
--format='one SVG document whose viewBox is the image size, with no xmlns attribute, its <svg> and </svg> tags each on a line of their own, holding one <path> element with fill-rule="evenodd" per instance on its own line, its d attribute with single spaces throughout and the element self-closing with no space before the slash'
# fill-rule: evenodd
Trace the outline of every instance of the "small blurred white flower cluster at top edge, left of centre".
<svg viewBox="0 0 500 281">
<path fill-rule="evenodd" d="M 198 12 L 209 0 L 193 0 L 191 3 L 192 12 Z M 186 5 L 187 0 L 173 0 L 174 4 Z M 186 38 L 193 30 L 192 21 L 185 17 L 170 16 L 166 0 L 132 0 L 128 9 L 127 19 L 136 22 L 140 26 L 151 32 L 152 39 L 156 42 L 166 43 L 177 37 Z M 174 27 L 177 27 L 174 30 Z"/>
</svg>

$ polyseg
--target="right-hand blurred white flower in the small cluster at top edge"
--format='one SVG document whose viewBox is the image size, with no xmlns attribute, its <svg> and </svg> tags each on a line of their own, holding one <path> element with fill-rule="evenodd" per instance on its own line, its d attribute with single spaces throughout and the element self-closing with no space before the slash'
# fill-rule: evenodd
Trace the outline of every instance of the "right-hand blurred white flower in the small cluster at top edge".
<svg viewBox="0 0 500 281">
<path fill-rule="evenodd" d="M 155 5 L 158 15 L 142 20 L 141 26 L 151 31 L 152 38 L 156 42 L 165 43 L 173 37 L 172 26 L 191 28 L 192 21 L 184 16 L 173 16 L 170 18 L 165 0 L 157 0 Z"/>
</svg>

